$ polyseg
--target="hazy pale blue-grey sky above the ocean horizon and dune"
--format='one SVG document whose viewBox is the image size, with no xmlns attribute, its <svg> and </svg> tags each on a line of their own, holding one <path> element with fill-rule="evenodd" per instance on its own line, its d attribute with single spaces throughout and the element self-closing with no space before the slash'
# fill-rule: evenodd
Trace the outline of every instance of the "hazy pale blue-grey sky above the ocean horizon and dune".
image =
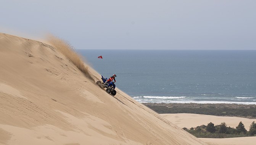
<svg viewBox="0 0 256 145">
<path fill-rule="evenodd" d="M 75 49 L 256 50 L 256 0 L 0 0 L 0 32 Z"/>
</svg>

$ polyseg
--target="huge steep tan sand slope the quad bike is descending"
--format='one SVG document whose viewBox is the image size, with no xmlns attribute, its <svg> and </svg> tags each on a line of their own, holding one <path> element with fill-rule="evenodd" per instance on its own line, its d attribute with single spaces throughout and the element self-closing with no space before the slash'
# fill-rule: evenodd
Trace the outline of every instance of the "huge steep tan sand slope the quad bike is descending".
<svg viewBox="0 0 256 145">
<path fill-rule="evenodd" d="M 94 81 L 100 78 L 89 70 Z M 94 81 L 54 47 L 0 33 L 0 144 L 205 144 Z"/>
</svg>

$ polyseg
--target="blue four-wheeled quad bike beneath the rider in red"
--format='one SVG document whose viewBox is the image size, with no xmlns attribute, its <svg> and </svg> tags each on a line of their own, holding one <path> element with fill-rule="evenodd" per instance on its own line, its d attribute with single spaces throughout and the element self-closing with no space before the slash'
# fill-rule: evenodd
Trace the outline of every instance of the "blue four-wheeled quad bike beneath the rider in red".
<svg viewBox="0 0 256 145">
<path fill-rule="evenodd" d="M 101 80 L 103 82 L 101 82 L 100 80 L 96 82 L 96 84 L 98 86 L 100 86 L 101 88 L 107 88 L 106 92 L 107 93 L 111 93 L 113 96 L 116 95 L 116 85 L 114 84 L 114 82 L 108 82 L 108 84 L 105 84 L 105 82 L 108 80 L 108 78 L 105 78 L 101 75 Z"/>
</svg>

